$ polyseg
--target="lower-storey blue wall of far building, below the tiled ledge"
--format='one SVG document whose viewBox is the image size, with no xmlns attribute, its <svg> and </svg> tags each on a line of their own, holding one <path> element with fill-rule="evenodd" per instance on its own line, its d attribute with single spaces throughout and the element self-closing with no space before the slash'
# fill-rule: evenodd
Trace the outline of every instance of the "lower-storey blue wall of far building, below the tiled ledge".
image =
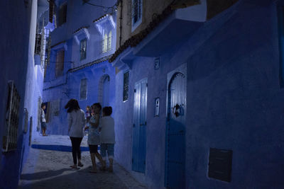
<svg viewBox="0 0 284 189">
<path fill-rule="evenodd" d="M 86 67 L 79 71 L 70 72 L 68 74 L 67 83 L 64 86 L 56 88 L 50 88 L 43 91 L 44 101 L 55 101 L 60 99 L 60 113 L 59 116 L 50 116 L 50 122 L 48 122 L 48 133 L 51 134 L 68 134 L 67 127 L 67 113 L 64 109 L 67 101 L 70 98 L 78 100 L 80 108 L 86 110 L 87 105 L 92 105 L 98 102 L 99 93 L 99 80 L 104 74 L 108 74 L 110 77 L 110 88 L 114 88 L 115 84 L 115 70 L 111 67 L 109 62 L 101 62 L 94 64 L 92 67 Z M 80 81 L 87 78 L 87 99 L 80 99 Z M 110 105 L 115 109 L 114 105 L 114 91 L 110 92 Z"/>
</svg>

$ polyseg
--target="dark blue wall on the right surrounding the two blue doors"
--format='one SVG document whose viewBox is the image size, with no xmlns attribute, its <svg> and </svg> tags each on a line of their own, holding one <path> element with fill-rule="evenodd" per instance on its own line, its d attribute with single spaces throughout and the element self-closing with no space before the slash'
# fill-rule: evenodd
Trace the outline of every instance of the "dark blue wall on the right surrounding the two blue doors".
<svg viewBox="0 0 284 189">
<path fill-rule="evenodd" d="M 206 21 L 160 55 L 158 70 L 153 58 L 134 58 L 129 101 L 122 101 L 126 69 L 116 75 L 116 161 L 131 171 L 133 85 L 147 77 L 146 173 L 131 173 L 150 187 L 163 188 L 167 73 L 183 63 L 187 64 L 186 187 L 281 188 L 284 130 L 278 18 L 276 4 L 266 0 L 239 1 Z M 156 97 L 159 117 L 154 117 Z M 233 151 L 230 183 L 208 178 L 210 147 Z"/>
</svg>

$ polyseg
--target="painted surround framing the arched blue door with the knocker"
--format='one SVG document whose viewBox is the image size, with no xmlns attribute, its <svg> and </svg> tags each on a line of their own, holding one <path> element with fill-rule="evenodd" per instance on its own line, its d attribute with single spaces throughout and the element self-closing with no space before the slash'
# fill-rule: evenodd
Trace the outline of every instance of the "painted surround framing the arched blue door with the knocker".
<svg viewBox="0 0 284 189">
<path fill-rule="evenodd" d="M 168 72 L 167 74 L 167 96 L 166 96 L 166 105 L 165 105 L 165 113 L 166 113 L 166 119 L 165 119 L 165 172 L 164 172 L 164 185 L 165 187 L 167 186 L 167 173 L 168 173 L 168 169 L 167 169 L 167 156 L 168 156 L 168 120 L 170 119 L 168 117 L 168 104 L 169 104 L 169 99 L 168 99 L 168 93 L 169 93 L 169 85 L 170 85 L 170 81 L 172 81 L 173 76 L 175 76 L 175 74 L 177 73 L 181 73 L 185 75 L 185 79 L 187 79 L 187 63 L 184 63 L 182 65 L 180 65 L 180 67 L 177 67 L 175 69 L 173 69 L 173 71 Z M 187 96 L 187 81 L 186 81 L 186 85 L 185 85 L 185 96 Z M 185 120 L 186 120 L 186 113 L 187 113 L 187 98 L 185 98 Z M 185 125 L 185 139 L 186 139 L 186 125 Z M 185 141 L 185 154 L 186 154 L 186 141 Z M 185 159 L 186 159 L 186 155 L 185 155 Z"/>
</svg>

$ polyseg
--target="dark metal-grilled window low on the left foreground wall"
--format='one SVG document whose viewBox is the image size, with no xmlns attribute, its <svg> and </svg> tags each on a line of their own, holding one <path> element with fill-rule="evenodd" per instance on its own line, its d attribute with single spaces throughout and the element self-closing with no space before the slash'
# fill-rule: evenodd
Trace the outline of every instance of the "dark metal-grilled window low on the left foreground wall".
<svg viewBox="0 0 284 189">
<path fill-rule="evenodd" d="M 8 100 L 6 105 L 6 127 L 3 134 L 3 151 L 17 149 L 18 119 L 20 112 L 20 96 L 13 81 L 8 82 Z"/>
</svg>

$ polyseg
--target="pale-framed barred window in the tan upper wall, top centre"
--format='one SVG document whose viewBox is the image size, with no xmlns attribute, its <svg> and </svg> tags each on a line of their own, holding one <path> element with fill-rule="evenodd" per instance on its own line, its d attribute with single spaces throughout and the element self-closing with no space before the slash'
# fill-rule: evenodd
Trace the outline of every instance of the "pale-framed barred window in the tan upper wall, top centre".
<svg viewBox="0 0 284 189">
<path fill-rule="evenodd" d="M 132 31 L 142 22 L 142 0 L 132 0 Z"/>
</svg>

